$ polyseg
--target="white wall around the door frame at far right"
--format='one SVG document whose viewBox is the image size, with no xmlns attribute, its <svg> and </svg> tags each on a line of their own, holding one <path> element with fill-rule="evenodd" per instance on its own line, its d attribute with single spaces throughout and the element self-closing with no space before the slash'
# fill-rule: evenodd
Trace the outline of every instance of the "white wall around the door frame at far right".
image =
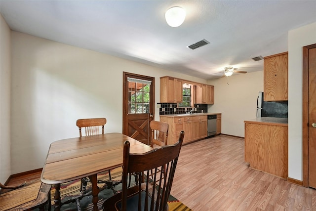
<svg viewBox="0 0 316 211">
<path fill-rule="evenodd" d="M 303 180 L 302 47 L 315 43 L 316 23 L 288 33 L 288 176 L 301 181 Z"/>
</svg>

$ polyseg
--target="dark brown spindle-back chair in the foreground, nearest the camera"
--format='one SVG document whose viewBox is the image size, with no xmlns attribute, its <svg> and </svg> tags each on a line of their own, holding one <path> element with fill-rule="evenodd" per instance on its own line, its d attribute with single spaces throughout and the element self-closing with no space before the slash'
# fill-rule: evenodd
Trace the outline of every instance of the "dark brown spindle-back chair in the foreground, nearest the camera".
<svg viewBox="0 0 316 211">
<path fill-rule="evenodd" d="M 130 153 L 129 141 L 124 142 L 122 191 L 102 205 L 104 211 L 168 211 L 168 198 L 184 137 L 180 132 L 177 143 L 153 149 L 147 153 Z M 151 169 L 166 167 L 164 179 L 161 174 L 149 177 Z M 128 188 L 128 174 L 137 172 L 144 181 Z M 156 170 L 154 171 L 157 172 Z M 159 178 L 159 181 L 157 180 Z M 158 184 L 157 184 L 158 181 Z"/>
</svg>

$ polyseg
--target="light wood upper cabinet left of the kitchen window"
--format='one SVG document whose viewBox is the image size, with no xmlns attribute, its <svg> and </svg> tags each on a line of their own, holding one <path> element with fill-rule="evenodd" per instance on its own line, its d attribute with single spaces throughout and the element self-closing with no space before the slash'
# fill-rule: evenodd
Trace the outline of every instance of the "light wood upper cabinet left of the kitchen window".
<svg viewBox="0 0 316 211">
<path fill-rule="evenodd" d="M 168 76 L 160 78 L 160 102 L 182 102 L 182 80 Z"/>
</svg>

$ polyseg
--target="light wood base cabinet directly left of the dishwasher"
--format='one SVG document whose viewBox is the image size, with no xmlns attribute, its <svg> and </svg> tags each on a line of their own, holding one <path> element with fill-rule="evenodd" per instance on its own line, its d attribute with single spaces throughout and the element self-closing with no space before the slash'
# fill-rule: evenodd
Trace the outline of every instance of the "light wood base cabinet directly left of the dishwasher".
<svg viewBox="0 0 316 211">
<path fill-rule="evenodd" d="M 207 137 L 207 116 L 196 116 L 192 118 L 192 140 Z"/>
</svg>

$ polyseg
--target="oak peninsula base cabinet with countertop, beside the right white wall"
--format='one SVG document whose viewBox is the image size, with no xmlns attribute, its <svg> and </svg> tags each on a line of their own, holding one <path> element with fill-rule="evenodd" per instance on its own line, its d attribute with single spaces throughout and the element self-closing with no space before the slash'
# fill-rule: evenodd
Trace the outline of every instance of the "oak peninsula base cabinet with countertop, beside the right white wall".
<svg viewBox="0 0 316 211">
<path fill-rule="evenodd" d="M 286 118 L 261 117 L 244 121 L 245 162 L 253 169 L 286 179 L 288 127 Z"/>
</svg>

